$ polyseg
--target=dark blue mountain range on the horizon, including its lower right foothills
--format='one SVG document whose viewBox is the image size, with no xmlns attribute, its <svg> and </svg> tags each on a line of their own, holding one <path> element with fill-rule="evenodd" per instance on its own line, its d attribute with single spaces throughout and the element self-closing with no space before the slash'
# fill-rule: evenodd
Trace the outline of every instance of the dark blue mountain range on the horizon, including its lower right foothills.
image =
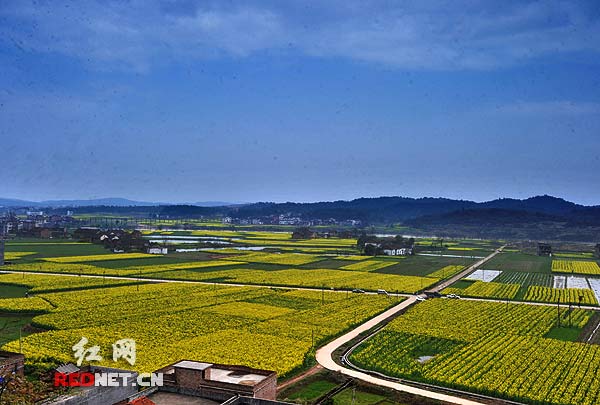
<svg viewBox="0 0 600 405">
<path fill-rule="evenodd" d="M 54 206 L 48 204 L 55 204 Z M 449 198 L 377 197 L 314 203 L 194 204 L 145 203 L 120 198 L 58 200 L 30 203 L 0 199 L 0 207 L 32 207 L 63 213 L 114 213 L 145 218 L 200 218 L 230 216 L 265 219 L 278 216 L 303 220 L 360 220 L 362 227 L 402 224 L 415 234 L 501 239 L 600 241 L 600 206 L 584 206 L 548 195 L 523 200 L 501 198 L 486 202 Z"/>
</svg>

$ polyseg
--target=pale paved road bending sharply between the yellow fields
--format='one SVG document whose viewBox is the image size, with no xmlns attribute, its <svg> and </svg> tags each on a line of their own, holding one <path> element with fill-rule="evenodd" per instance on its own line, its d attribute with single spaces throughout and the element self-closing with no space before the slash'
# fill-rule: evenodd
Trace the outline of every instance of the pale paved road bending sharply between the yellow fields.
<svg viewBox="0 0 600 405">
<path fill-rule="evenodd" d="M 466 276 L 467 274 L 469 274 L 470 272 L 475 270 L 477 267 L 484 264 L 486 261 L 492 259 L 498 253 L 500 253 L 501 250 L 502 250 L 502 248 L 496 250 L 491 255 L 478 261 L 477 263 L 473 264 L 472 266 L 469 266 L 464 271 L 460 272 L 459 274 L 455 275 L 454 277 L 450 278 L 449 280 L 438 284 L 437 286 L 430 289 L 429 291 L 439 292 L 439 291 L 443 290 L 450 284 L 460 280 L 461 278 L 463 278 L 464 276 Z M 365 333 L 365 332 L 379 326 L 384 321 L 397 315 L 400 311 L 405 310 L 406 308 L 413 305 L 415 302 L 417 302 L 417 297 L 412 296 L 412 297 L 408 298 L 407 300 L 401 302 L 400 304 L 398 304 L 398 305 L 388 309 L 387 311 L 383 312 L 382 314 L 376 316 L 375 318 L 368 320 L 367 322 L 363 323 L 356 329 L 346 333 L 343 336 L 340 336 L 339 338 L 335 339 L 333 342 L 323 346 L 322 348 L 317 350 L 317 353 L 316 353 L 317 362 L 319 362 L 320 365 L 322 365 L 323 367 L 325 367 L 328 370 L 335 371 L 335 372 L 347 375 L 349 377 L 357 378 L 359 380 L 365 381 L 370 384 L 379 385 L 379 386 L 387 387 L 387 388 L 392 388 L 397 391 L 408 392 L 410 394 L 419 395 L 422 397 L 435 399 L 438 401 L 449 402 L 452 404 L 460 404 L 460 405 L 482 404 L 481 402 L 476 402 L 476 401 L 469 400 L 469 399 L 464 399 L 464 398 L 460 398 L 460 397 L 456 397 L 456 396 L 452 396 L 452 395 L 442 394 L 442 393 L 435 392 L 435 391 L 429 391 L 429 390 L 425 390 L 422 388 L 417 388 L 417 387 L 413 387 L 410 385 L 385 380 L 383 378 L 374 377 L 372 375 L 363 373 L 361 371 L 352 370 L 350 368 L 341 366 L 341 365 L 337 364 L 336 361 L 333 359 L 333 353 L 335 351 L 337 351 L 340 347 L 344 346 L 348 342 L 357 338 L 362 333 Z"/>
</svg>

